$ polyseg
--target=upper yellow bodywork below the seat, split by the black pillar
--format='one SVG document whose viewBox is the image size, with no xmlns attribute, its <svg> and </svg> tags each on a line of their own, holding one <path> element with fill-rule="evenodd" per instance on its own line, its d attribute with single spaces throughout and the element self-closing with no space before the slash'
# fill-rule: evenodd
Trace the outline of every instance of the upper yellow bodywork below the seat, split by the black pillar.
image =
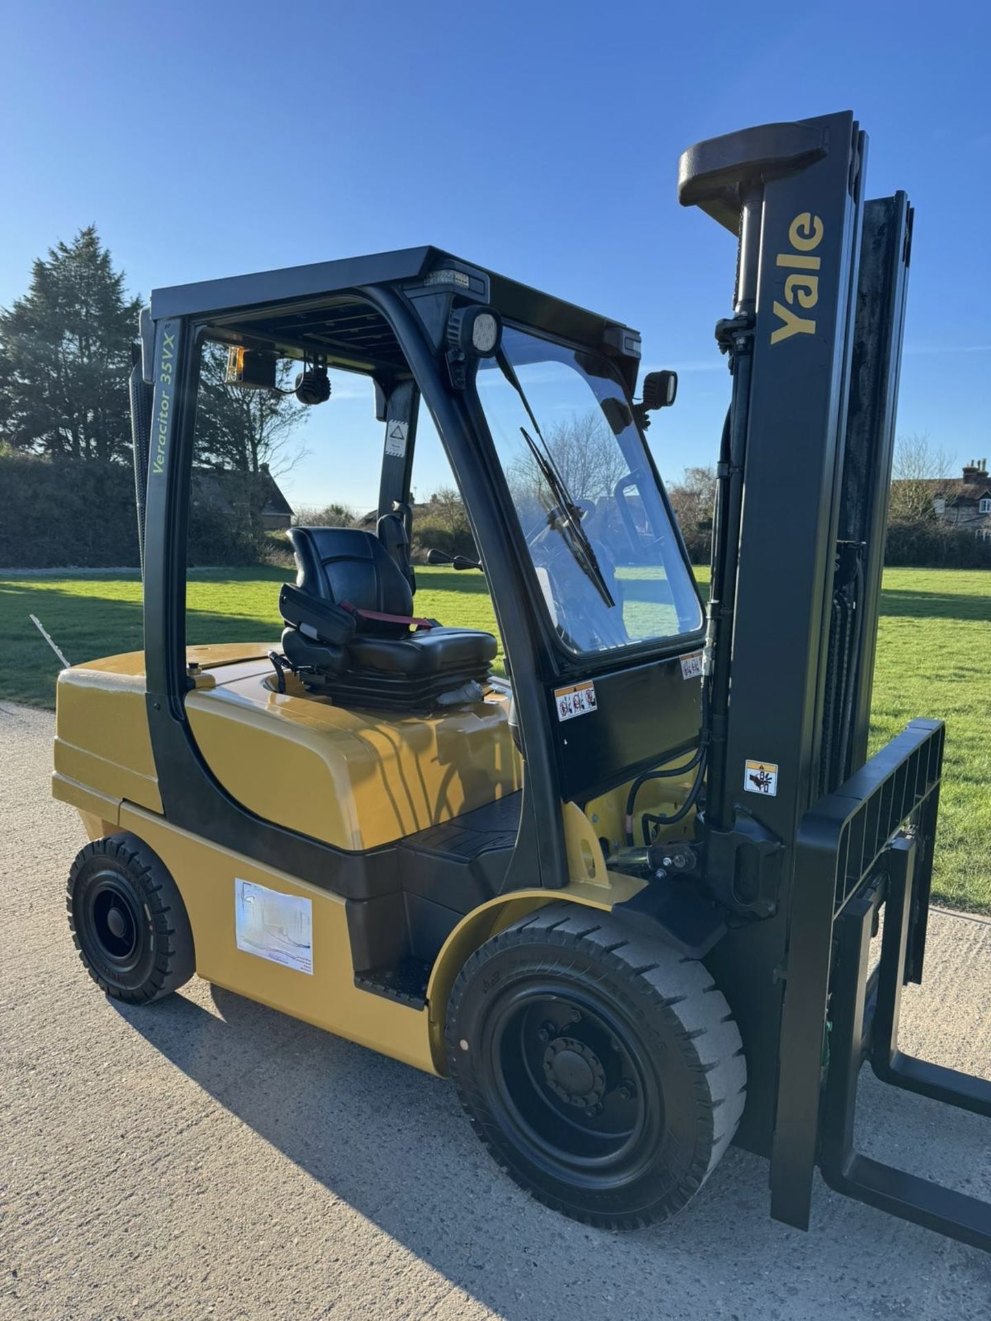
<svg viewBox="0 0 991 1321">
<path fill-rule="evenodd" d="M 188 655 L 198 667 L 189 723 L 217 779 L 256 815 L 337 848 L 388 844 L 522 783 L 502 695 L 429 716 L 377 715 L 292 680 L 277 692 L 259 643 Z M 122 802 L 161 812 L 143 653 L 59 675 L 53 793 L 108 820 Z"/>
</svg>

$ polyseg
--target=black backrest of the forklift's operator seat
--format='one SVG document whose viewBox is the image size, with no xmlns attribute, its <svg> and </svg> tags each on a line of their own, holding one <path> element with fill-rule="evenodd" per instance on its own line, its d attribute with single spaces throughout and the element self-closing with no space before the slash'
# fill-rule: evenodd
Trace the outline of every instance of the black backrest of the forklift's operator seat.
<svg viewBox="0 0 991 1321">
<path fill-rule="evenodd" d="M 412 592 L 374 532 L 357 527 L 291 527 L 296 587 L 359 610 L 412 614 Z M 386 626 L 388 627 L 388 626 Z M 379 631 L 362 625 L 362 631 Z"/>
</svg>

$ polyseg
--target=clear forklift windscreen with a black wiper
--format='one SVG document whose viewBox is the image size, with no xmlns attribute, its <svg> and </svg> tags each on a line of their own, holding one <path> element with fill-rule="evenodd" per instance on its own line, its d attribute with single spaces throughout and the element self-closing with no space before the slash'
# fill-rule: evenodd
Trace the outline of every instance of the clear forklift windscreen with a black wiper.
<svg viewBox="0 0 991 1321">
<path fill-rule="evenodd" d="M 700 627 L 690 571 L 609 363 L 506 326 L 476 387 L 563 642 L 603 651 Z"/>
</svg>

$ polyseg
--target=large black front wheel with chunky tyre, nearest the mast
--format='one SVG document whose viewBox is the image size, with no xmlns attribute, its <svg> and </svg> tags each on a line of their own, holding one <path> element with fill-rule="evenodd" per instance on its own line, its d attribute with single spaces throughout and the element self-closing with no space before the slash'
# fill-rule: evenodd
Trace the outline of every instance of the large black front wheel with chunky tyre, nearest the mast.
<svg viewBox="0 0 991 1321">
<path fill-rule="evenodd" d="M 604 1229 L 679 1211 L 743 1114 L 740 1033 L 706 968 L 572 904 L 468 959 L 447 1049 L 498 1164 L 540 1202 Z"/>
</svg>

